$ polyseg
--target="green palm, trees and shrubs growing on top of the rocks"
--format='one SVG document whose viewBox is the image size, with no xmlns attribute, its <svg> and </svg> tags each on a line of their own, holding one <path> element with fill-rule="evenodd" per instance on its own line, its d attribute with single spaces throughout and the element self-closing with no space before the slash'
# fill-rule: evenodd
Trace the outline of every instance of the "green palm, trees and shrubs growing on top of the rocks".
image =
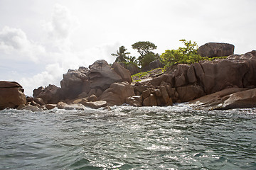
<svg viewBox="0 0 256 170">
<path fill-rule="evenodd" d="M 223 59 L 226 57 L 202 57 L 198 55 L 198 45 L 196 42 L 191 42 L 191 40 L 179 40 L 183 43 L 183 47 L 178 47 L 177 50 L 166 50 L 162 55 L 152 52 L 156 49 L 156 45 L 149 41 L 139 41 L 132 45 L 134 50 L 137 50 L 139 57 L 129 56 L 129 52 L 124 46 L 119 47 L 117 54 L 112 54 L 117 57 L 115 62 L 124 62 L 126 64 L 132 63 L 136 67 L 144 68 L 149 67 L 149 63 L 154 60 L 160 60 L 165 68 L 171 67 L 174 64 L 193 64 L 195 62 L 200 62 L 202 60 L 215 60 Z"/>
</svg>

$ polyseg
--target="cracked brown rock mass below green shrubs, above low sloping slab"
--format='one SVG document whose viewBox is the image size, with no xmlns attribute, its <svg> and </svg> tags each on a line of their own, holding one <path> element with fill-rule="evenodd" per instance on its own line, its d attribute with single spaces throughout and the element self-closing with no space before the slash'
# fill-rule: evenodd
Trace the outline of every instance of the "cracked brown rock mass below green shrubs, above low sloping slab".
<svg viewBox="0 0 256 170">
<path fill-rule="evenodd" d="M 255 88 L 255 68 L 256 51 L 245 55 L 230 55 L 223 60 L 178 64 L 173 72 L 162 74 L 146 83 L 137 82 L 134 92 L 142 96 L 144 106 L 167 106 L 171 103 L 166 103 L 168 96 L 173 102 L 186 102 L 224 89 Z"/>
</svg>

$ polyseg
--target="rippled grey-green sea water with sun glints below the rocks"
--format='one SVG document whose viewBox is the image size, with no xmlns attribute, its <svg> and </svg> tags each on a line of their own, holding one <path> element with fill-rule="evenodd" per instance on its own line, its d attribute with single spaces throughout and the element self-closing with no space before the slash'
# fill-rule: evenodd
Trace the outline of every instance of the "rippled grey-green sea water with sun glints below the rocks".
<svg viewBox="0 0 256 170">
<path fill-rule="evenodd" d="M 256 108 L 4 110 L 0 169 L 256 169 Z"/>
</svg>

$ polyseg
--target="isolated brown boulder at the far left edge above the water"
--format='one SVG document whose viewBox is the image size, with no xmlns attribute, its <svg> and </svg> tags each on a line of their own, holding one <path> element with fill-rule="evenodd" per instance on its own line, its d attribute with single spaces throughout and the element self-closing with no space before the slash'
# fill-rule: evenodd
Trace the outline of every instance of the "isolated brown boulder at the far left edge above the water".
<svg viewBox="0 0 256 170">
<path fill-rule="evenodd" d="M 26 104 L 22 86 L 14 81 L 0 81 L 0 110 Z"/>
</svg>

